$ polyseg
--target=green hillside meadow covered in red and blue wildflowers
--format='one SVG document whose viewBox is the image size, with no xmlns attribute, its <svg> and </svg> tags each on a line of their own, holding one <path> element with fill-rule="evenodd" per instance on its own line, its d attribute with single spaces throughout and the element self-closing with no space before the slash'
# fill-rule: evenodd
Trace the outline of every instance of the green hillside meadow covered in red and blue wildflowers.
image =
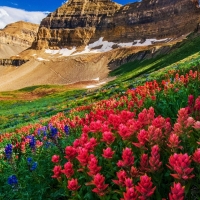
<svg viewBox="0 0 200 200">
<path fill-rule="evenodd" d="M 200 38 L 190 37 L 97 90 L 1 93 L 0 199 L 199 199 Z"/>
</svg>

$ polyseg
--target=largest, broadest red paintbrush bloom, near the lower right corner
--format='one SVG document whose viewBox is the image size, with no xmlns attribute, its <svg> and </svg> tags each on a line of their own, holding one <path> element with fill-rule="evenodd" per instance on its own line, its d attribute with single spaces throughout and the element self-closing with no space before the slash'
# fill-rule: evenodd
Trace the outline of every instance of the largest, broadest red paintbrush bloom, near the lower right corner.
<svg viewBox="0 0 200 200">
<path fill-rule="evenodd" d="M 191 172 L 194 168 L 190 168 L 191 159 L 187 153 L 185 154 L 173 154 L 169 158 L 169 165 L 167 165 L 171 170 L 175 171 L 176 174 L 171 174 L 175 179 L 191 179 L 194 177 Z"/>
</svg>

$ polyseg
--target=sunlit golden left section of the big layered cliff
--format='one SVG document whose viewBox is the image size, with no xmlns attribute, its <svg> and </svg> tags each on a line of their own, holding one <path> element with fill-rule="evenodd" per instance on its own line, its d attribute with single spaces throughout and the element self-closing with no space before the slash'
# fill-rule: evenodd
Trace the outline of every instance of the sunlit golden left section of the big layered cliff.
<svg viewBox="0 0 200 200">
<path fill-rule="evenodd" d="M 42 20 L 34 47 L 86 45 L 99 23 L 113 17 L 120 7 L 110 0 L 70 0 Z"/>
</svg>

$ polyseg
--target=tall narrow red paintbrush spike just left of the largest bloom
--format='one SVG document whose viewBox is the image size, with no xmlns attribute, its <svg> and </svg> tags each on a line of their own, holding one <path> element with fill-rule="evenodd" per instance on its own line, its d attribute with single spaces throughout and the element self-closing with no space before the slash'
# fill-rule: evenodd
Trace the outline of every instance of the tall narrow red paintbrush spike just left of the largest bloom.
<svg viewBox="0 0 200 200">
<path fill-rule="evenodd" d="M 150 164 L 150 171 L 155 172 L 159 170 L 160 166 L 162 165 L 162 162 L 160 162 L 160 148 L 158 145 L 154 145 L 151 148 L 151 157 L 149 158 L 149 164 Z"/>
</svg>

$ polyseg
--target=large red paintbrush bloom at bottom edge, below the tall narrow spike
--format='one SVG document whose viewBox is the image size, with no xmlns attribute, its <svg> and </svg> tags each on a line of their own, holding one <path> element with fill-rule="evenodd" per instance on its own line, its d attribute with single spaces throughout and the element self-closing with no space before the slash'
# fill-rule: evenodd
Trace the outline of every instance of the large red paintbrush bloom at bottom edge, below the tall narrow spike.
<svg viewBox="0 0 200 200">
<path fill-rule="evenodd" d="M 136 186 L 136 190 L 140 193 L 139 199 L 147 200 L 151 197 L 155 191 L 156 187 L 153 187 L 151 178 L 147 175 L 140 177 L 140 182 Z"/>
</svg>

